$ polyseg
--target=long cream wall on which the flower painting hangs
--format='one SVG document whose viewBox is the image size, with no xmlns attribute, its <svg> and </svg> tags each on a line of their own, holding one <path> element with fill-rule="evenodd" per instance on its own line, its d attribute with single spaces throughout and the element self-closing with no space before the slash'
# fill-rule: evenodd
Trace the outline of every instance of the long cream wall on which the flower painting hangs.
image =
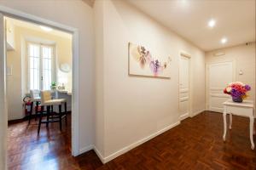
<svg viewBox="0 0 256 170">
<path fill-rule="evenodd" d="M 101 108 L 96 111 L 96 122 L 102 122 L 100 117 L 104 117 L 101 125 L 96 123 L 96 128 L 101 128 L 96 131 L 96 137 L 104 137 L 96 138 L 96 149 L 103 161 L 109 161 L 131 149 L 131 144 L 135 146 L 140 139 L 179 122 L 181 50 L 191 55 L 192 111 L 204 111 L 205 54 L 122 1 L 99 0 L 94 8 L 96 17 L 101 19 L 96 23 L 96 51 L 99 51 L 96 60 L 103 63 L 102 68 L 96 70 L 96 93 L 100 92 L 103 99 L 96 100 L 96 107 Z M 171 79 L 129 77 L 128 42 L 141 44 L 154 54 L 171 56 Z"/>
</svg>

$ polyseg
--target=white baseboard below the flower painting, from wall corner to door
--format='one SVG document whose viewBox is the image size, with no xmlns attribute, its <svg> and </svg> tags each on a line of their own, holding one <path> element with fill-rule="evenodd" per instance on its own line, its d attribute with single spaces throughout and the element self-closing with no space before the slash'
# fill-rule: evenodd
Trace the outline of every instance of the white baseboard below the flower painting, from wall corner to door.
<svg viewBox="0 0 256 170">
<path fill-rule="evenodd" d="M 135 147 L 137 147 L 140 144 L 143 144 L 143 143 L 147 142 L 150 139 L 153 139 L 154 137 L 160 135 L 161 133 L 166 132 L 167 130 L 171 129 L 172 127 L 176 127 L 179 124 L 180 124 L 180 121 L 176 122 L 176 123 L 173 123 L 172 125 L 170 125 L 168 127 L 165 127 L 163 129 L 161 129 L 160 131 L 158 131 L 156 133 L 153 133 L 153 134 L 149 135 L 148 137 L 146 137 L 144 139 L 140 139 L 140 140 L 138 140 L 137 142 L 135 142 L 135 143 L 133 143 L 131 145 L 125 146 L 123 149 L 116 151 L 115 153 L 111 154 L 110 156 L 104 157 L 102 159 L 102 162 L 103 163 L 107 163 L 108 161 L 111 161 L 114 158 L 116 158 L 116 157 L 118 157 L 120 155 L 125 154 L 125 152 L 127 152 L 127 151 L 129 151 L 129 150 L 131 150 L 131 149 L 133 149 Z"/>
</svg>

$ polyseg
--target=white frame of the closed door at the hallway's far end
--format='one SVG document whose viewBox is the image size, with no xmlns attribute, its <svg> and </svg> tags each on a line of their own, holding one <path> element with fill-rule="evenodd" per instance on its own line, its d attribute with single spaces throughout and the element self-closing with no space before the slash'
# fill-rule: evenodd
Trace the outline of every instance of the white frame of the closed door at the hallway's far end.
<svg viewBox="0 0 256 170">
<path fill-rule="evenodd" d="M 232 82 L 236 82 L 236 60 L 230 59 L 230 60 L 224 60 L 224 61 L 217 61 L 217 62 L 209 62 L 206 64 L 206 110 L 210 111 L 210 85 L 209 85 L 209 68 L 210 65 L 219 65 L 223 63 L 232 63 Z"/>
</svg>

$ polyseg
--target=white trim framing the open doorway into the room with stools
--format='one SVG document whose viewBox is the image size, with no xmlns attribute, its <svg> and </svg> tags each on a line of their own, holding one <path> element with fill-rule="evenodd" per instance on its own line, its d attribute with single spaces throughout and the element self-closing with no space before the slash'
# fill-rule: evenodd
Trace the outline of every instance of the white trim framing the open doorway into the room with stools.
<svg viewBox="0 0 256 170">
<path fill-rule="evenodd" d="M 63 26 L 61 24 L 55 23 L 53 21 L 49 20 L 44 20 L 41 18 L 38 18 L 36 16 L 28 15 L 28 14 L 20 14 L 18 11 L 6 11 L 6 13 L 1 14 L 0 13 L 0 37 L 1 37 L 1 42 L 0 42 L 0 48 L 1 48 L 1 59 L 0 59 L 0 73 L 1 73 L 1 81 L 0 81 L 0 112 L 1 112 L 1 117 L 0 117 L 0 122 L 1 122 L 1 127 L 0 127 L 0 134 L 1 137 L 3 137 L 3 141 L 0 141 L 0 154 L 1 160 L 0 164 L 3 165 L 3 169 L 7 168 L 7 150 L 6 150 L 6 145 L 7 145 L 7 122 L 8 122 L 8 105 L 7 105 L 7 73 L 11 74 L 12 69 L 7 67 L 6 63 L 6 43 L 5 43 L 5 35 L 6 35 L 6 30 L 5 30 L 5 19 L 4 17 L 12 17 L 16 20 L 24 20 L 28 21 L 32 24 L 35 25 L 42 25 L 48 28 L 54 28 L 59 31 L 66 31 L 67 33 L 71 34 L 72 36 L 72 86 L 73 89 L 75 88 L 76 90 L 72 90 L 72 134 L 71 134 L 71 148 L 72 150 L 72 155 L 73 156 L 78 156 L 79 155 L 79 34 L 77 29 L 72 28 L 70 26 Z M 63 66 L 63 70 L 67 71 L 67 65 Z M 71 155 L 71 153 L 70 153 Z"/>
</svg>

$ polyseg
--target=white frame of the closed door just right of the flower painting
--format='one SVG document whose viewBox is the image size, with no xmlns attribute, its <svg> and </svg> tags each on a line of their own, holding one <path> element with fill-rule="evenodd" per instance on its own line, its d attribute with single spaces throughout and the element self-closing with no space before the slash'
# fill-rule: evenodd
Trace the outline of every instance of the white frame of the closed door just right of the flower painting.
<svg viewBox="0 0 256 170">
<path fill-rule="evenodd" d="M 191 55 L 189 53 L 184 52 L 184 51 L 180 51 L 179 55 L 178 55 L 178 111 L 179 111 L 179 114 L 180 114 L 180 104 L 179 104 L 180 103 L 179 102 L 179 98 L 180 98 L 180 92 L 179 92 L 180 91 L 180 88 L 179 88 L 180 87 L 180 79 L 179 79 L 179 77 L 180 77 L 181 73 L 180 73 L 179 69 L 181 67 L 181 57 L 185 57 L 185 58 L 189 59 L 189 114 L 187 116 L 180 116 L 179 115 L 179 120 L 180 121 L 182 121 L 182 120 L 184 120 L 188 117 L 193 116 L 192 115 L 192 99 L 191 99 L 191 97 L 192 97 Z"/>
</svg>

